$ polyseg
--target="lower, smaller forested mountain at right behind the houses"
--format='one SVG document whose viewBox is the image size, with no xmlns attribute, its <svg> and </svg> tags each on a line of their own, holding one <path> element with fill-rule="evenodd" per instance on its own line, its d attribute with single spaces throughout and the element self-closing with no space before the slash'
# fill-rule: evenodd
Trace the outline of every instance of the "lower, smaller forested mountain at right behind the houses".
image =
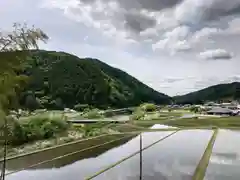
<svg viewBox="0 0 240 180">
<path fill-rule="evenodd" d="M 199 104 L 205 101 L 240 99 L 240 82 L 218 84 L 183 96 L 175 96 L 178 104 Z"/>
</svg>

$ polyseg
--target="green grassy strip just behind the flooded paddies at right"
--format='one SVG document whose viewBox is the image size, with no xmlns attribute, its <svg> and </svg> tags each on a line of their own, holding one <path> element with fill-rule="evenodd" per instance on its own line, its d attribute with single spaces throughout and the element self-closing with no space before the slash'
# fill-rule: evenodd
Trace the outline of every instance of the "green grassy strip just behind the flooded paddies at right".
<svg viewBox="0 0 240 180">
<path fill-rule="evenodd" d="M 190 116 L 182 118 L 182 116 L 184 115 Z M 191 117 L 191 115 L 193 116 Z M 207 116 L 201 114 L 194 114 L 186 110 L 174 110 L 170 112 L 161 110 L 154 112 L 146 112 L 138 108 L 130 117 L 130 119 L 132 124 L 144 128 L 151 127 L 154 124 L 164 124 L 180 128 L 218 127 L 227 129 L 240 129 L 240 116 Z"/>
</svg>

